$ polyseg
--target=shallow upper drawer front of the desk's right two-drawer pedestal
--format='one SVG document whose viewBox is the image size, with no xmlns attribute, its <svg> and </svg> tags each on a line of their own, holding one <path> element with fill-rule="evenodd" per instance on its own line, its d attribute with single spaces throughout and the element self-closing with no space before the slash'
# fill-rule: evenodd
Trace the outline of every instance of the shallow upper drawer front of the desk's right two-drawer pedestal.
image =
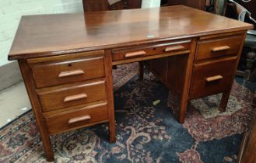
<svg viewBox="0 0 256 163">
<path fill-rule="evenodd" d="M 195 59 L 205 60 L 212 57 L 237 55 L 243 36 L 228 36 L 222 39 L 198 41 Z"/>
</svg>

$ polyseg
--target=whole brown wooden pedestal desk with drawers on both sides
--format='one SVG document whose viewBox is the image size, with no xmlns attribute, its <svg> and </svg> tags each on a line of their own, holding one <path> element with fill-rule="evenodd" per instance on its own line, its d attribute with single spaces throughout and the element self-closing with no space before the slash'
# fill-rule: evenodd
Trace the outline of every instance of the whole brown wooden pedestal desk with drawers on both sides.
<svg viewBox="0 0 256 163">
<path fill-rule="evenodd" d="M 183 5 L 23 16 L 9 60 L 19 61 L 52 161 L 51 134 L 108 122 L 110 142 L 115 141 L 112 65 L 145 61 L 180 93 L 181 123 L 189 99 L 223 92 L 224 111 L 252 28 Z"/>
</svg>

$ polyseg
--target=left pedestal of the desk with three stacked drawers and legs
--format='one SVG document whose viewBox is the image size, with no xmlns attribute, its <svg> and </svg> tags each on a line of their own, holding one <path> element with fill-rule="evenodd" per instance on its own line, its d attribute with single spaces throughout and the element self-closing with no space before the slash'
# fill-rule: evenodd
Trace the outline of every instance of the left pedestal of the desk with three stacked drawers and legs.
<svg viewBox="0 0 256 163">
<path fill-rule="evenodd" d="M 115 142 L 112 66 L 107 52 L 19 60 L 19 67 L 47 161 L 54 161 L 52 134 L 107 122 L 110 142 Z"/>
</svg>

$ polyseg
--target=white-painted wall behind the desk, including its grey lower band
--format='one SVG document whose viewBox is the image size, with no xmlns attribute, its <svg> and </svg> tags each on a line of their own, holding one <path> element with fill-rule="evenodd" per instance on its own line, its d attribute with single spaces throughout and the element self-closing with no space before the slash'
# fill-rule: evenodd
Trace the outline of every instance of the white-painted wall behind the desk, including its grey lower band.
<svg viewBox="0 0 256 163">
<path fill-rule="evenodd" d="M 160 0 L 142 1 L 143 8 L 159 5 Z M 0 90 L 22 80 L 18 64 L 7 60 L 21 16 L 65 12 L 83 12 L 82 0 L 0 0 Z"/>
</svg>

